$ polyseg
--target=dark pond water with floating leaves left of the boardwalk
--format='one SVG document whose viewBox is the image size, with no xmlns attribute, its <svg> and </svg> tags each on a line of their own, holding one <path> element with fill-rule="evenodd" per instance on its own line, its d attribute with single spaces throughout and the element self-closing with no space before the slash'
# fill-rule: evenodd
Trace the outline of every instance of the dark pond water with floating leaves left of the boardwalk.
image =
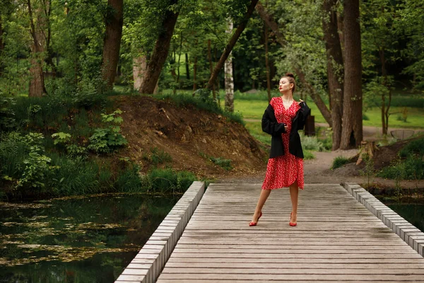
<svg viewBox="0 0 424 283">
<path fill-rule="evenodd" d="M 0 203 L 0 282 L 114 282 L 177 198 Z"/>
</svg>

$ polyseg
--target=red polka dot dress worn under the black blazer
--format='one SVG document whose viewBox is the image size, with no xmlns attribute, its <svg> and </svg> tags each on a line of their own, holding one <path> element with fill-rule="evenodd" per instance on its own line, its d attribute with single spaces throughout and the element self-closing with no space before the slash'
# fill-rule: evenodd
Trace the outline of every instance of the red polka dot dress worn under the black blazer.
<svg viewBox="0 0 424 283">
<path fill-rule="evenodd" d="M 300 109 L 299 103 L 293 101 L 292 105 L 288 109 L 285 109 L 283 98 L 275 97 L 271 99 L 270 104 L 275 112 L 277 122 L 285 123 L 288 129 L 285 133 L 281 134 L 281 137 L 283 137 L 284 155 L 269 158 L 262 189 L 273 190 L 281 187 L 289 187 L 298 180 L 298 186 L 303 190 L 303 159 L 288 152 L 292 119 Z"/>
</svg>

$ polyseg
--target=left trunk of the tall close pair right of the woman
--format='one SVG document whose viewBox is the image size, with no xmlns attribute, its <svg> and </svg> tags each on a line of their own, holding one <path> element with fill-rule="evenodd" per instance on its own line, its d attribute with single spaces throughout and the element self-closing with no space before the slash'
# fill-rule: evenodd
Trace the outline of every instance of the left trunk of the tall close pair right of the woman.
<svg viewBox="0 0 424 283">
<path fill-rule="evenodd" d="M 341 117 L 343 116 L 343 55 L 341 54 L 340 38 L 338 37 L 336 2 L 337 0 L 324 0 L 324 18 L 322 19 L 326 47 L 331 120 L 333 122 L 332 150 L 340 147 Z"/>
</svg>

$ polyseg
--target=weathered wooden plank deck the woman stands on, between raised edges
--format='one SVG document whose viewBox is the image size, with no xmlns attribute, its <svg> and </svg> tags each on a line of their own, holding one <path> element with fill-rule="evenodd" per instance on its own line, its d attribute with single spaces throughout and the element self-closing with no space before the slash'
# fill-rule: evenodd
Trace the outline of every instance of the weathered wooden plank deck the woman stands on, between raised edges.
<svg viewBox="0 0 424 283">
<path fill-rule="evenodd" d="M 296 227 L 275 190 L 249 227 L 260 187 L 209 185 L 157 282 L 424 282 L 423 256 L 341 185 L 305 185 Z"/>
</svg>

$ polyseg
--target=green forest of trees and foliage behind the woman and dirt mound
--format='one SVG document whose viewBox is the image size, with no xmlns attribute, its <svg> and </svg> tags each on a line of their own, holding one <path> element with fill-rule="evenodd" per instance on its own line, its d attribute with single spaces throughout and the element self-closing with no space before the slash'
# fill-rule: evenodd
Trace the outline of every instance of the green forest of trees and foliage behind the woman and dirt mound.
<svg viewBox="0 0 424 283">
<path fill-rule="evenodd" d="M 297 98 L 331 128 L 333 150 L 359 146 L 363 121 L 383 135 L 394 117 L 420 127 L 423 11 L 419 0 L 2 1 L 2 182 L 45 187 L 48 173 L 64 167 L 53 165 L 60 154 L 45 154 L 50 147 L 62 146 L 75 166 L 88 151 L 125 146 L 120 110 L 102 111 L 108 96 L 193 96 L 240 120 L 228 114 L 234 99 L 247 117 L 257 101 L 264 109 L 286 71 L 296 76 Z M 49 125 L 75 105 L 88 113 L 101 105 L 107 126 L 76 133 Z M 89 124 L 84 115 L 79 122 Z M 20 158 L 6 162 L 19 143 Z"/>
</svg>

